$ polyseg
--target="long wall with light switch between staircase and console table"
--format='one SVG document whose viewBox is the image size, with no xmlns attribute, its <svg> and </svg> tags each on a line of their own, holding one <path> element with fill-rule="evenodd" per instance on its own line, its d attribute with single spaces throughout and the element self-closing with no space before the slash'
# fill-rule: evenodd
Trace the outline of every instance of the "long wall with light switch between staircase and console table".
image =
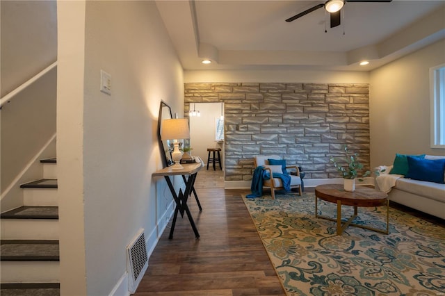
<svg viewBox="0 0 445 296">
<path fill-rule="evenodd" d="M 183 72 L 154 1 L 58 1 L 58 26 L 60 288 L 108 295 L 126 284 L 127 244 L 143 228 L 152 249 L 171 211 L 151 175 L 159 103 L 184 113 Z"/>
</svg>

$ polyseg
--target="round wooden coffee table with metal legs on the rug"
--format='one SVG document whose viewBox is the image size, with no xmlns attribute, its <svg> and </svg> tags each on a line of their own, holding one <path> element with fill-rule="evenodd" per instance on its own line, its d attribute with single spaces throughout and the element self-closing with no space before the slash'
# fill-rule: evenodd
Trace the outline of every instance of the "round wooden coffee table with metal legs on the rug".
<svg viewBox="0 0 445 296">
<path fill-rule="evenodd" d="M 326 202 L 332 202 L 337 204 L 337 219 L 318 215 L 317 201 L 323 199 Z M 341 224 L 341 206 L 353 206 L 354 215 L 352 215 L 347 222 Z M 353 220 L 357 217 L 357 208 L 361 207 L 374 207 L 374 206 L 387 206 L 387 229 L 376 229 L 365 225 L 353 224 Z M 363 229 L 369 229 L 378 231 L 380 233 L 389 233 L 389 199 L 385 192 L 375 190 L 366 186 L 357 186 L 354 192 L 349 192 L 343 189 L 343 185 L 340 184 L 325 184 L 316 186 L 315 188 L 315 217 L 323 219 L 337 221 L 337 236 L 343 233 L 349 225 L 360 227 Z"/>
</svg>

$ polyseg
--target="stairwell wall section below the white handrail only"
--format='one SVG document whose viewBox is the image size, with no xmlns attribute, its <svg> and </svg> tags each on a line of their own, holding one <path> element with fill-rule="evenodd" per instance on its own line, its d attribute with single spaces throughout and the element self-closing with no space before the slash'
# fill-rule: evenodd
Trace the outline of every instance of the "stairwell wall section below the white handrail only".
<svg viewBox="0 0 445 296">
<path fill-rule="evenodd" d="M 54 68 L 1 108 L 2 212 L 23 205 L 17 176 L 23 176 L 29 163 L 56 133 L 56 81 L 57 69 Z M 48 153 L 50 155 L 40 157 L 56 156 L 56 145 L 51 145 Z M 35 172 L 27 172 L 26 175 L 20 178 L 22 183 L 42 178 L 42 166 L 37 165 Z"/>
</svg>

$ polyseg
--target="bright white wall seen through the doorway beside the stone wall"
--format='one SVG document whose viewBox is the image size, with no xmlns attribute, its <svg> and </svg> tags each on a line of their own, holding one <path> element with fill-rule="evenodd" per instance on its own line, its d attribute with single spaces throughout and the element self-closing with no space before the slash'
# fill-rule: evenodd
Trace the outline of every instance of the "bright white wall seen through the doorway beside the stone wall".
<svg viewBox="0 0 445 296">
<path fill-rule="evenodd" d="M 193 109 L 193 103 L 191 105 Z M 202 161 L 207 164 L 207 156 L 209 155 L 207 148 L 221 148 L 221 164 L 224 167 L 224 143 L 215 141 L 215 119 L 221 115 L 221 103 L 196 103 L 196 110 L 200 110 L 201 116 L 189 117 L 190 144 L 193 148 L 191 154 L 200 156 Z M 219 167 L 218 164 L 216 165 Z"/>
</svg>

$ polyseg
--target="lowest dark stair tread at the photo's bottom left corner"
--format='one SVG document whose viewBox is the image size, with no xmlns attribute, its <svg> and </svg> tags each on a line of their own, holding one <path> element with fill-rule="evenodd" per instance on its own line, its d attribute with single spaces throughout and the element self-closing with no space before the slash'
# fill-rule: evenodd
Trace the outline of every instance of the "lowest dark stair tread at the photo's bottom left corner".
<svg viewBox="0 0 445 296">
<path fill-rule="evenodd" d="M 1 296 L 58 296 L 60 283 L 2 283 Z"/>
</svg>

